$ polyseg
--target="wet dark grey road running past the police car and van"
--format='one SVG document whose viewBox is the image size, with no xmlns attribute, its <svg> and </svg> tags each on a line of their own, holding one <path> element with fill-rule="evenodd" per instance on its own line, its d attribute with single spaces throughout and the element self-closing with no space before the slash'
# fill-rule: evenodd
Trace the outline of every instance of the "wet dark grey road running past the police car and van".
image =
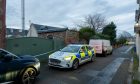
<svg viewBox="0 0 140 84">
<path fill-rule="evenodd" d="M 95 62 L 83 64 L 77 70 L 43 64 L 36 84 L 127 84 L 130 48 L 117 48 L 112 55 L 97 57 Z"/>
</svg>

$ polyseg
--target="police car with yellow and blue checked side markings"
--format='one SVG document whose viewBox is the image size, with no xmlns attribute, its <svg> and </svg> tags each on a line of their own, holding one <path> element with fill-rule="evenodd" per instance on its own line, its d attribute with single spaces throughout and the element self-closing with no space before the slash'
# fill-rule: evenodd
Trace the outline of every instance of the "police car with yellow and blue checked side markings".
<svg viewBox="0 0 140 84">
<path fill-rule="evenodd" d="M 70 44 L 49 56 L 48 65 L 58 68 L 77 69 L 79 65 L 95 61 L 95 50 L 89 45 Z"/>
</svg>

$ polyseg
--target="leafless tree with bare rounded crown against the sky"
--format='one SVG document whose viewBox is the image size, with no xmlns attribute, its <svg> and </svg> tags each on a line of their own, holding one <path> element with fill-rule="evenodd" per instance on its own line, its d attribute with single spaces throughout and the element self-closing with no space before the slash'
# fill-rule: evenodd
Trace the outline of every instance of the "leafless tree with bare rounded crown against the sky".
<svg viewBox="0 0 140 84">
<path fill-rule="evenodd" d="M 106 19 L 101 14 L 88 15 L 85 17 L 85 25 L 94 29 L 95 32 L 100 32 L 106 25 Z"/>
</svg>

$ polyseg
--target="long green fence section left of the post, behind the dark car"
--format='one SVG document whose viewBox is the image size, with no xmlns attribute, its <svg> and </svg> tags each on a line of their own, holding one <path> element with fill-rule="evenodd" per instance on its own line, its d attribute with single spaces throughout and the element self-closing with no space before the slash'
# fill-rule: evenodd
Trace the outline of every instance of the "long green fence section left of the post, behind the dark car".
<svg viewBox="0 0 140 84">
<path fill-rule="evenodd" d="M 37 55 L 53 50 L 53 40 L 42 38 L 7 39 L 6 49 L 17 55 Z"/>
</svg>

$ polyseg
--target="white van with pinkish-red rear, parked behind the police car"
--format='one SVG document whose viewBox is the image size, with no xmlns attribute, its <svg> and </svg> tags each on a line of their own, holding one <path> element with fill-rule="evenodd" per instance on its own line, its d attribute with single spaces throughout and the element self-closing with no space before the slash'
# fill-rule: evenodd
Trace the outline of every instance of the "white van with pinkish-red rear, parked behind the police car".
<svg viewBox="0 0 140 84">
<path fill-rule="evenodd" d="M 102 54 L 106 56 L 107 54 L 112 54 L 113 48 L 109 40 L 104 39 L 91 39 L 89 45 L 96 50 L 96 54 Z"/>
</svg>

